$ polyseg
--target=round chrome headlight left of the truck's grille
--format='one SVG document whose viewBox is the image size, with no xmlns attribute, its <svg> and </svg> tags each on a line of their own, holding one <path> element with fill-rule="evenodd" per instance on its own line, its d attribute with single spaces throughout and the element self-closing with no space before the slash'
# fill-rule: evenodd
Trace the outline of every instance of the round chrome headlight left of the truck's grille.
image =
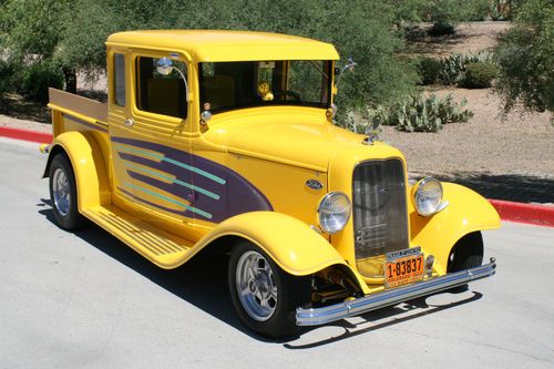
<svg viewBox="0 0 554 369">
<path fill-rule="evenodd" d="M 319 202 L 317 214 L 321 229 L 339 232 L 350 218 L 350 199 L 341 192 L 330 192 Z"/>
</svg>

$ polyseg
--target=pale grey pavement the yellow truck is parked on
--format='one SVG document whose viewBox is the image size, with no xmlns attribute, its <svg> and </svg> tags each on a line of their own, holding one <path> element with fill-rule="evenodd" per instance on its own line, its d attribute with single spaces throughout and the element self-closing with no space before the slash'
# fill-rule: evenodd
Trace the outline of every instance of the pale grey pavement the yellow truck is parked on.
<svg viewBox="0 0 554 369">
<path fill-rule="evenodd" d="M 225 263 L 164 271 L 104 230 L 53 224 L 45 157 L 0 139 L 0 368 L 552 368 L 554 228 L 488 232 L 496 276 L 305 331 L 253 336 Z"/>
</svg>

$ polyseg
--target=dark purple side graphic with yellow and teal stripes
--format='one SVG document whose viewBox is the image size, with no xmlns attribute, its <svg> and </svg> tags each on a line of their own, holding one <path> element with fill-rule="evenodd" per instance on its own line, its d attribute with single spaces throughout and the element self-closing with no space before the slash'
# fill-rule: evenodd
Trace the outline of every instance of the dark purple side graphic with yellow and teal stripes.
<svg viewBox="0 0 554 369">
<path fill-rule="evenodd" d="M 129 175 L 117 188 L 150 207 L 214 223 L 243 213 L 273 211 L 258 188 L 224 164 L 150 141 L 110 139 Z"/>
</svg>

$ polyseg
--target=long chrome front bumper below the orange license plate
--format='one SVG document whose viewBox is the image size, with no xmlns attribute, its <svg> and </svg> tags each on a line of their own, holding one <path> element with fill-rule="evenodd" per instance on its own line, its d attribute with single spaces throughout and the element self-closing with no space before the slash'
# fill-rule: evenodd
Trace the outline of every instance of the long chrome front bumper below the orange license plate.
<svg viewBox="0 0 554 369">
<path fill-rule="evenodd" d="M 386 306 L 397 305 L 406 300 L 465 285 L 472 280 L 491 277 L 494 275 L 495 269 L 496 262 L 493 257 L 491 257 L 491 263 L 489 264 L 448 274 L 442 277 L 435 277 L 433 279 L 420 281 L 410 286 L 399 287 L 366 297 L 360 297 L 351 301 L 345 301 L 321 308 L 298 308 L 296 309 L 296 325 L 318 326 L 376 310 Z"/>
</svg>

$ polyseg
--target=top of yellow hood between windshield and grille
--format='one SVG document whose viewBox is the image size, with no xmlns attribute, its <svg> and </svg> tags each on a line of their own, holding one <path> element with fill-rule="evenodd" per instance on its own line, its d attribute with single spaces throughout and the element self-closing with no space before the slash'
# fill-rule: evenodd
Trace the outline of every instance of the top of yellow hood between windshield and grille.
<svg viewBox="0 0 554 369">
<path fill-rule="evenodd" d="M 361 146 L 363 135 L 330 124 L 325 112 L 273 106 L 216 114 L 204 137 L 236 155 L 327 172 L 329 160 Z"/>
</svg>

